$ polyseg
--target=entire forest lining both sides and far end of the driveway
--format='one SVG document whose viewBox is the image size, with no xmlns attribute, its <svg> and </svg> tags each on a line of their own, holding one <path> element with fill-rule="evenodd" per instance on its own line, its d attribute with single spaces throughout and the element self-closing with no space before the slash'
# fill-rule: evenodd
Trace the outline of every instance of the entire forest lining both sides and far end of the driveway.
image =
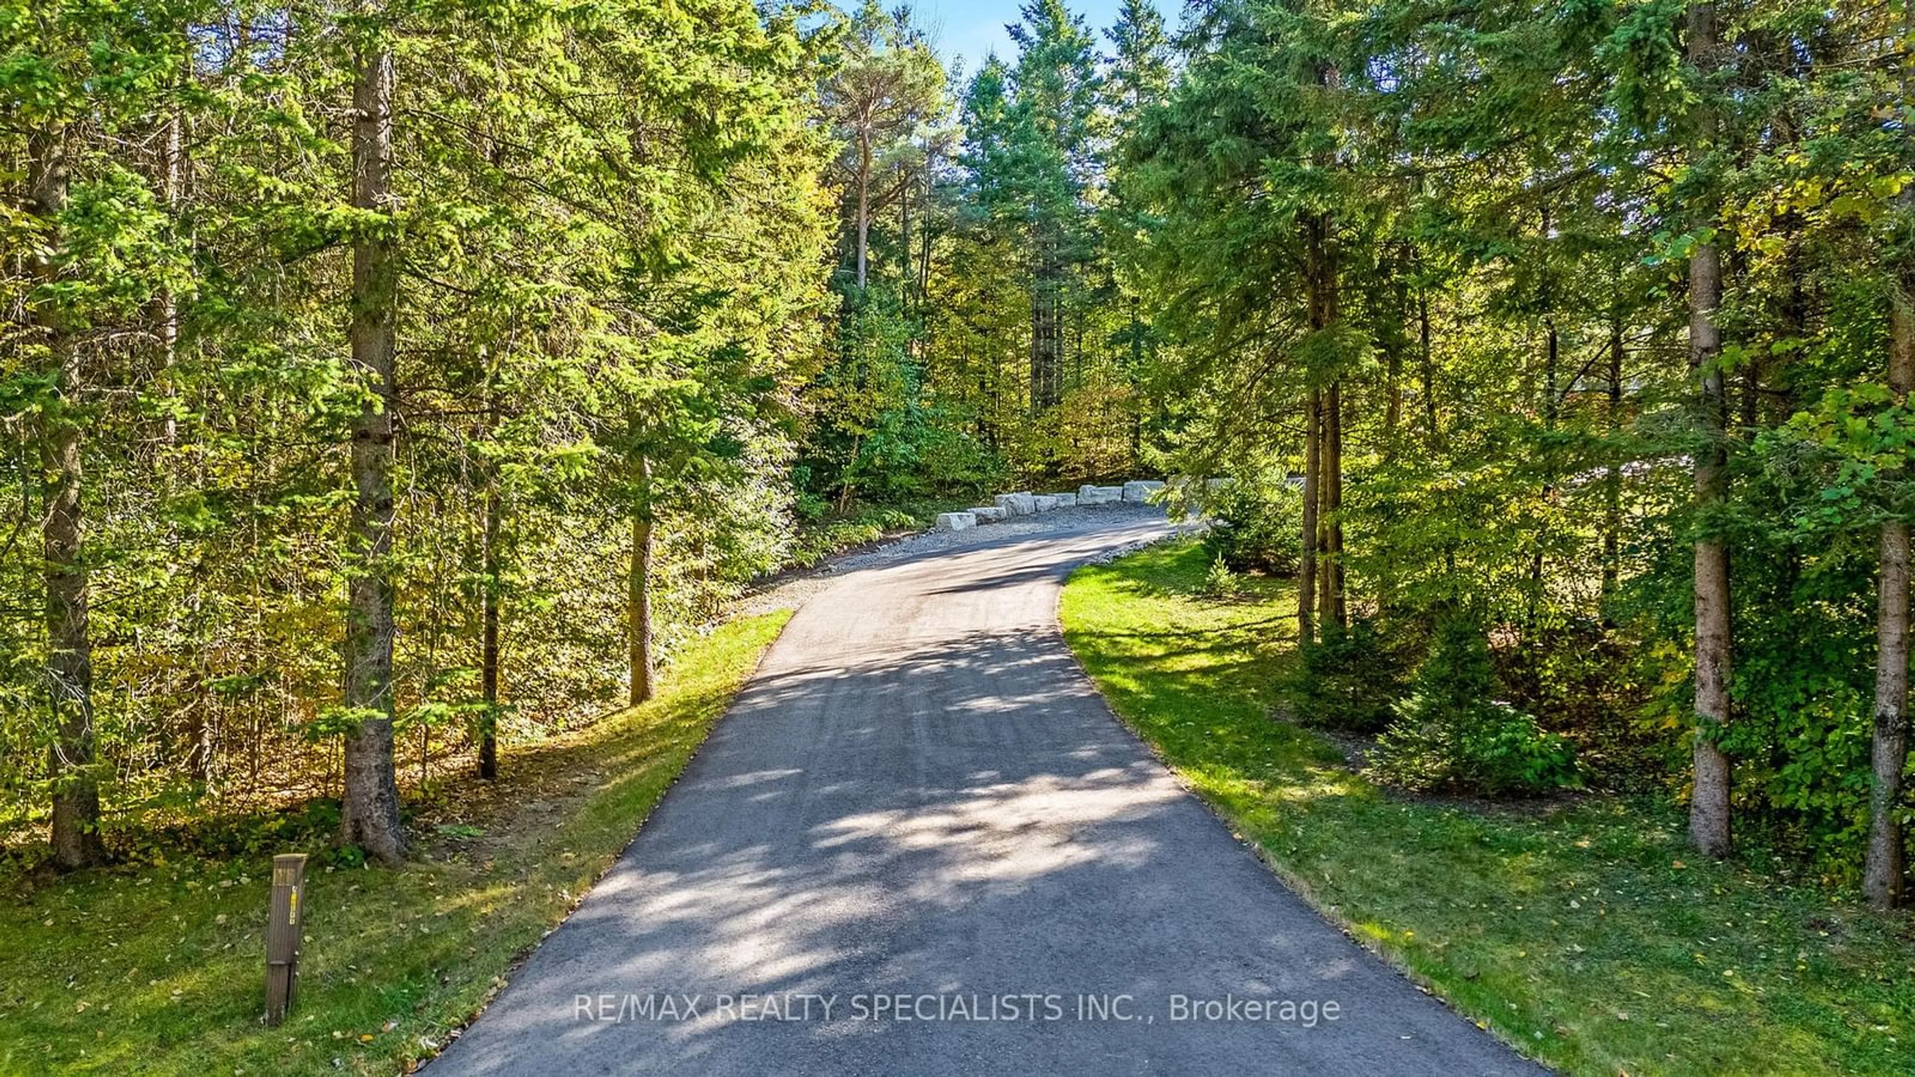
<svg viewBox="0 0 1915 1077">
<path fill-rule="evenodd" d="M 398 859 L 831 519 L 1176 473 L 1392 780 L 1896 903 L 1911 19 L 10 0 L 0 822 Z"/>
</svg>

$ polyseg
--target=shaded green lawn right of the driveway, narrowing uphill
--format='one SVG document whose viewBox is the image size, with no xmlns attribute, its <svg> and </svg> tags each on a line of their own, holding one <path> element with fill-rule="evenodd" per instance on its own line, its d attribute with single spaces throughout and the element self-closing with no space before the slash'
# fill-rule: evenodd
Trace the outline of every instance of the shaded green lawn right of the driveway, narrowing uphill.
<svg viewBox="0 0 1915 1077">
<path fill-rule="evenodd" d="M 1295 592 L 1203 598 L 1159 546 L 1078 571 L 1065 634 L 1164 761 L 1293 889 L 1457 1010 L 1572 1073 L 1915 1073 L 1905 916 L 1708 864 L 1655 797 L 1388 795 L 1277 721 Z"/>
</svg>

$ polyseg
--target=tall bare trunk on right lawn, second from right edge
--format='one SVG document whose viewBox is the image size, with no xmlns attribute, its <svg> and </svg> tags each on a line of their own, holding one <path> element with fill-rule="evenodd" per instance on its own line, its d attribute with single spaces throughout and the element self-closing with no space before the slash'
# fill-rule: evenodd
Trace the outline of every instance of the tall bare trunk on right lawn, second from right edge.
<svg viewBox="0 0 1915 1077">
<path fill-rule="evenodd" d="M 1716 6 L 1689 8 L 1687 56 L 1699 69 L 1716 63 Z M 1699 117 L 1697 153 L 1708 153 L 1716 140 L 1714 111 Z M 1714 213 L 1695 215 L 1714 224 Z M 1727 500 L 1727 422 L 1729 401 L 1720 366 L 1722 330 L 1722 253 L 1714 241 L 1697 243 L 1689 255 L 1689 366 L 1697 378 L 1697 412 L 1702 447 L 1695 456 L 1695 498 L 1701 537 L 1695 540 L 1695 791 L 1689 799 L 1689 841 L 1710 857 L 1727 857 L 1729 836 L 1729 757 L 1720 736 L 1729 724 L 1729 550 L 1714 529 L 1712 516 Z"/>
</svg>

